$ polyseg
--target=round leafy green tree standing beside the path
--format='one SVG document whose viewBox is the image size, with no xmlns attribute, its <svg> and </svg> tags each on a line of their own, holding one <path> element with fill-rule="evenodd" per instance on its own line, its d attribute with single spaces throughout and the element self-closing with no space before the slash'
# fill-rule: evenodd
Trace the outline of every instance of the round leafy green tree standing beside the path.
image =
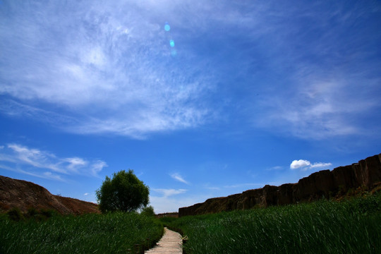
<svg viewBox="0 0 381 254">
<path fill-rule="evenodd" d="M 112 179 L 106 176 L 97 189 L 97 200 L 102 212 L 133 212 L 146 207 L 150 199 L 150 188 L 129 169 L 114 173 Z"/>
</svg>

